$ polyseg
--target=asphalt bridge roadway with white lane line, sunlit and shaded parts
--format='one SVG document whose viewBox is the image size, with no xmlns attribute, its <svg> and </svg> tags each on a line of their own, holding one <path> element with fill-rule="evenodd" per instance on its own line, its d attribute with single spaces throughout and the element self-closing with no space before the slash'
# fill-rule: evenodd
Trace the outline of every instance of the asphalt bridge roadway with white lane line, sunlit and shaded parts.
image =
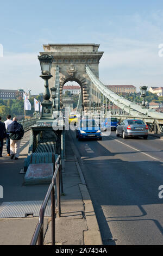
<svg viewBox="0 0 163 256">
<path fill-rule="evenodd" d="M 104 245 L 162 245 L 163 141 L 114 131 L 102 141 L 78 141 L 70 133 Z"/>
</svg>

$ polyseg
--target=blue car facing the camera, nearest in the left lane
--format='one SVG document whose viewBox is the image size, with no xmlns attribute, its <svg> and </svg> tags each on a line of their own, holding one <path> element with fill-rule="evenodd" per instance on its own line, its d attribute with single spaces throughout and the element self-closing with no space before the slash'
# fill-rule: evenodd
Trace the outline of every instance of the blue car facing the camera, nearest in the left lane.
<svg viewBox="0 0 163 256">
<path fill-rule="evenodd" d="M 79 141 L 92 138 L 102 140 L 101 129 L 94 119 L 82 119 L 76 129 L 76 137 Z"/>
</svg>

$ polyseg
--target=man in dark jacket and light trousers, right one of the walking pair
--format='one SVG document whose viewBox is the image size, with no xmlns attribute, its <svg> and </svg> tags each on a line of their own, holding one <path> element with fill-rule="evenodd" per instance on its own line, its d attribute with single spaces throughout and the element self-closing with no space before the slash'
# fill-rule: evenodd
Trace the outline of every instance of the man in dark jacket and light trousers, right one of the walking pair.
<svg viewBox="0 0 163 256">
<path fill-rule="evenodd" d="M 10 153 L 11 153 L 10 159 L 14 159 L 14 156 L 15 156 L 15 160 L 18 160 L 18 156 L 20 153 L 21 139 L 23 138 L 23 135 L 24 135 L 24 129 L 21 124 L 17 123 L 16 117 L 14 117 L 13 122 L 8 125 L 7 132 L 10 133 L 9 135 Z"/>
</svg>

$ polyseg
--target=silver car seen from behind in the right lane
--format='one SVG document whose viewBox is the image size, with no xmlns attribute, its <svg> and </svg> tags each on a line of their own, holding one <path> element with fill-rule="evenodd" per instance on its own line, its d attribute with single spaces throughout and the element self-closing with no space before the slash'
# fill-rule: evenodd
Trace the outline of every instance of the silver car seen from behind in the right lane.
<svg viewBox="0 0 163 256">
<path fill-rule="evenodd" d="M 148 125 L 142 120 L 126 119 L 123 120 L 120 125 L 117 126 L 116 135 L 120 135 L 123 139 L 126 137 L 142 136 L 144 139 L 148 138 Z"/>
</svg>

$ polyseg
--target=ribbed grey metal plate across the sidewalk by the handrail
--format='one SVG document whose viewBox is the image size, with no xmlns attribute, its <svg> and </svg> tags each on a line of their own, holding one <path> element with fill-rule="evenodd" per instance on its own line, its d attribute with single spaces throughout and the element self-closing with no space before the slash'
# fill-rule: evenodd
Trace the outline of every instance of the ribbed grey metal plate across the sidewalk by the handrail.
<svg viewBox="0 0 163 256">
<path fill-rule="evenodd" d="M 3 202 L 0 205 L 0 218 L 38 217 L 42 201 Z M 45 216 L 51 216 L 51 201 L 48 201 Z"/>
</svg>

